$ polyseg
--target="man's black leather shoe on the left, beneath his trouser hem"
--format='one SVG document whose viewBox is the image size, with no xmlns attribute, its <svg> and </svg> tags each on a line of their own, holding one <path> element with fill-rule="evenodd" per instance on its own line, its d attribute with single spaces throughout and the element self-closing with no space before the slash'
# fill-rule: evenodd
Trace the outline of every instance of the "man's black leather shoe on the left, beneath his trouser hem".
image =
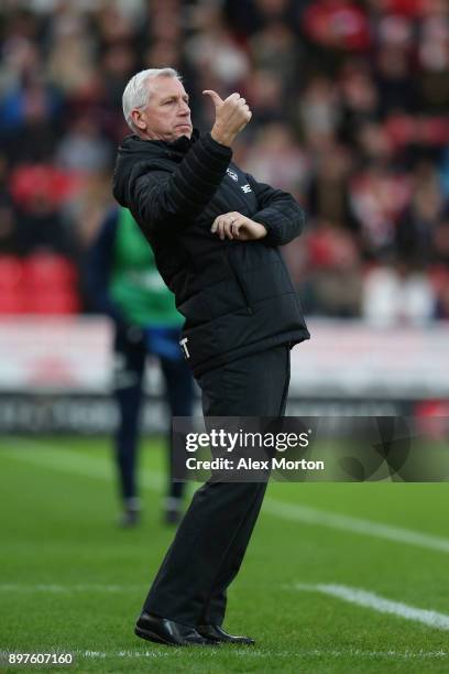
<svg viewBox="0 0 449 674">
<path fill-rule="evenodd" d="M 134 633 L 147 641 L 166 645 L 216 645 L 198 634 L 194 627 L 167 618 L 158 618 L 145 611 L 139 618 Z"/>
</svg>

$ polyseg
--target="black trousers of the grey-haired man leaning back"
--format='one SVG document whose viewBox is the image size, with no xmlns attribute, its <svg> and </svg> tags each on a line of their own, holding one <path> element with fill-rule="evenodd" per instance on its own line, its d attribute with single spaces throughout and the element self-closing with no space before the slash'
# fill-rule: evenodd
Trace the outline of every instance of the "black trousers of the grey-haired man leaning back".
<svg viewBox="0 0 449 674">
<path fill-rule="evenodd" d="M 205 416 L 283 416 L 289 348 L 275 347 L 199 379 Z M 144 604 L 185 624 L 221 624 L 266 482 L 207 481 L 193 498 Z"/>
</svg>

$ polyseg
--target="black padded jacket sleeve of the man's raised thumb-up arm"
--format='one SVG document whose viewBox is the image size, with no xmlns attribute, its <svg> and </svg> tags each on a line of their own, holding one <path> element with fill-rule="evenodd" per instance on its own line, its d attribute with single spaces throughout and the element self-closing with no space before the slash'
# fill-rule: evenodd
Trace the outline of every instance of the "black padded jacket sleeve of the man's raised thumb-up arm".
<svg viewBox="0 0 449 674">
<path fill-rule="evenodd" d="M 190 148 L 175 171 L 163 162 L 131 178 L 128 202 L 144 229 L 196 217 L 212 198 L 231 161 L 232 151 L 207 133 Z M 164 170 L 165 168 L 165 170 Z"/>
</svg>

